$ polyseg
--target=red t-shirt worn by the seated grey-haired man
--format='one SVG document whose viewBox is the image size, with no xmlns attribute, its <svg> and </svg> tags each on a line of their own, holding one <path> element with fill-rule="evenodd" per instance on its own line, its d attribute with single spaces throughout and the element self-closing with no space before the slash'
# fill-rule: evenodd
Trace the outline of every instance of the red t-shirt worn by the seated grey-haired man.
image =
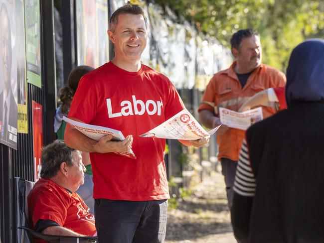
<svg viewBox="0 0 324 243">
<path fill-rule="evenodd" d="M 51 220 L 85 236 L 96 233 L 94 216 L 80 196 L 50 179 L 39 179 L 28 194 L 28 214 L 33 227 L 38 220 Z"/>
</svg>

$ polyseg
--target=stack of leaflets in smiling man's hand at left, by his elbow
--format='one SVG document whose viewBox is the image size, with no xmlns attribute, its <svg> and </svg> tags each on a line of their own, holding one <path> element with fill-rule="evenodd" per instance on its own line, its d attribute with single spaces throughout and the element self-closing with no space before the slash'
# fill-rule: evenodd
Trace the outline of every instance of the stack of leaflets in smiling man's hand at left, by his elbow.
<svg viewBox="0 0 324 243">
<path fill-rule="evenodd" d="M 119 130 L 115 130 L 112 128 L 99 126 L 99 125 L 90 125 L 87 123 L 82 122 L 76 122 L 69 118 L 63 117 L 63 121 L 68 122 L 70 125 L 72 125 L 74 128 L 82 132 L 87 137 L 98 141 L 101 137 L 111 134 L 113 138 L 111 140 L 113 141 L 123 141 L 125 139 L 123 133 Z M 119 155 L 129 157 L 132 159 L 136 159 L 135 154 L 133 153 L 132 149 L 128 152 L 115 152 Z"/>
</svg>

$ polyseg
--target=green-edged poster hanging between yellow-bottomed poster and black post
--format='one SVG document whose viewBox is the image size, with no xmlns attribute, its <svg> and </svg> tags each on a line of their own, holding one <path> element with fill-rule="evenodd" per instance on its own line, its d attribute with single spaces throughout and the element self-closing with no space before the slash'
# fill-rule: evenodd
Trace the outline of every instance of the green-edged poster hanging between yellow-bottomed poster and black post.
<svg viewBox="0 0 324 243">
<path fill-rule="evenodd" d="M 27 82 L 41 88 L 39 0 L 25 0 Z"/>
</svg>

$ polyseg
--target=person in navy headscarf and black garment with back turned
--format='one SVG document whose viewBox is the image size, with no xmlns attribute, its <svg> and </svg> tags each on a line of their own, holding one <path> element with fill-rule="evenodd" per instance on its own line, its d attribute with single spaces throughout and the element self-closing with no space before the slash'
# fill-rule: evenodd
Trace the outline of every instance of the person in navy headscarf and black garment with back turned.
<svg viewBox="0 0 324 243">
<path fill-rule="evenodd" d="M 246 132 L 232 224 L 241 243 L 324 241 L 324 40 L 292 52 L 288 109 Z"/>
</svg>

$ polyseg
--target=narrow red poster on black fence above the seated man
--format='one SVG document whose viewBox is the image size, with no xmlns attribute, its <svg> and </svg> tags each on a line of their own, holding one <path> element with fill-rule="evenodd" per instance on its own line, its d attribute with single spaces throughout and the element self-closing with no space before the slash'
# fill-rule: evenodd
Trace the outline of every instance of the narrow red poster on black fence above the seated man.
<svg viewBox="0 0 324 243">
<path fill-rule="evenodd" d="M 40 178 L 41 149 L 43 147 L 42 105 L 32 101 L 32 136 L 34 150 L 34 181 Z"/>
</svg>

